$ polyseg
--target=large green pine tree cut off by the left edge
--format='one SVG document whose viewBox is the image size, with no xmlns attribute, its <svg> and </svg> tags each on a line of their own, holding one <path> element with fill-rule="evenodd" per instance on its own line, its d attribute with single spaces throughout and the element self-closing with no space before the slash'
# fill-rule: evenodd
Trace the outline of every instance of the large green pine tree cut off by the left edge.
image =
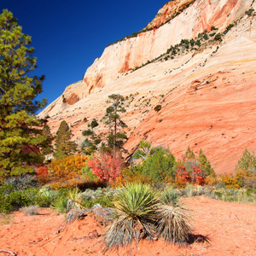
<svg viewBox="0 0 256 256">
<path fill-rule="evenodd" d="M 0 15 L 0 172 L 3 177 L 33 172 L 31 164 L 42 162 L 39 151 L 45 137 L 34 113 L 46 99 L 35 101 L 42 92 L 44 76 L 29 76 L 37 66 L 32 56 L 31 37 L 22 32 L 7 9 Z M 41 125 L 41 127 L 40 127 Z"/>
</svg>

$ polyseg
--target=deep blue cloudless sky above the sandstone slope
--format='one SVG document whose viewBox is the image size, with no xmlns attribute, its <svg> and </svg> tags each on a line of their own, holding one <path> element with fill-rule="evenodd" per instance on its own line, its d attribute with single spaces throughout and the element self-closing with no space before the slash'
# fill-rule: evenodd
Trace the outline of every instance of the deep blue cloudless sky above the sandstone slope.
<svg viewBox="0 0 256 256">
<path fill-rule="evenodd" d="M 4 3 L 5 2 L 5 3 Z M 166 0 L 3 0 L 23 32 L 32 36 L 35 74 L 44 74 L 48 104 L 77 82 L 108 44 L 138 32 Z"/>
</svg>

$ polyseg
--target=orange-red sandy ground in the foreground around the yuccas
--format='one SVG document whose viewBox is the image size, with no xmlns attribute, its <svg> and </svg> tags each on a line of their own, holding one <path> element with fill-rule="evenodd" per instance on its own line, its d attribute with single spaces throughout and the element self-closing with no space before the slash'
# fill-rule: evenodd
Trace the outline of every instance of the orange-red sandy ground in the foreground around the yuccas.
<svg viewBox="0 0 256 256">
<path fill-rule="evenodd" d="M 103 253 L 103 228 L 94 218 L 85 217 L 58 232 L 64 217 L 49 209 L 41 209 L 37 216 L 15 212 L 12 224 L 0 227 L 0 249 L 18 256 L 256 255 L 256 206 L 203 196 L 184 202 L 193 210 L 194 234 L 208 236 L 210 243 L 196 241 L 187 247 L 178 247 L 164 241 L 141 241 L 119 252 Z"/>
</svg>

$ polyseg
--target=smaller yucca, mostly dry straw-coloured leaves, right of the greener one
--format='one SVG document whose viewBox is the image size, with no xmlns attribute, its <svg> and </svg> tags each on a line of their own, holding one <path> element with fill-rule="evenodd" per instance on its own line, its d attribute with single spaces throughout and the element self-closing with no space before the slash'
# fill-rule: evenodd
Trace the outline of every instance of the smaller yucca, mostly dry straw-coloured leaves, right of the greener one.
<svg viewBox="0 0 256 256">
<path fill-rule="evenodd" d="M 159 219 L 156 223 L 157 236 L 166 242 L 182 245 L 193 231 L 190 224 L 190 212 L 178 199 L 178 195 L 168 190 L 162 194 L 161 205 L 157 210 Z"/>
</svg>

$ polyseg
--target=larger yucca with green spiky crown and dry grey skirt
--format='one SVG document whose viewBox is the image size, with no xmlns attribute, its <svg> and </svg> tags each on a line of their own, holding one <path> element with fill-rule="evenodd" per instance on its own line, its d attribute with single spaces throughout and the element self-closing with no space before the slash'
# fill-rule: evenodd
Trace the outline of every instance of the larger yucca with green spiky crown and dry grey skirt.
<svg viewBox="0 0 256 256">
<path fill-rule="evenodd" d="M 155 235 L 157 192 L 143 183 L 128 183 L 116 197 L 116 214 L 104 233 L 106 249 Z"/>
</svg>

